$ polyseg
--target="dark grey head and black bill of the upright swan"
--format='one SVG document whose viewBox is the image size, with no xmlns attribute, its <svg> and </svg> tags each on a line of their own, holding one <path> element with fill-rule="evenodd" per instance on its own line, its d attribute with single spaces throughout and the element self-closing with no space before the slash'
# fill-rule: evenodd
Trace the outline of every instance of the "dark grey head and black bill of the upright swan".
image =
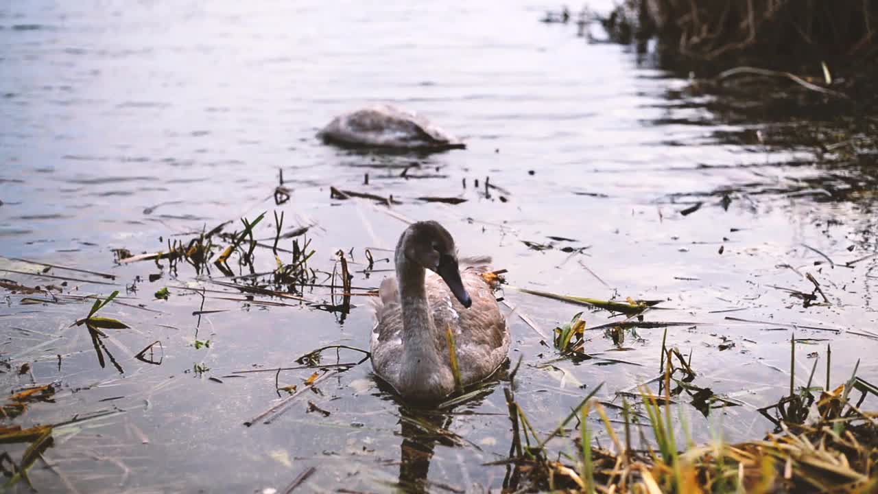
<svg viewBox="0 0 878 494">
<path fill-rule="evenodd" d="M 470 308 L 472 299 L 460 279 L 454 238 L 442 225 L 437 222 L 414 223 L 399 237 L 396 251 L 397 256 L 401 253 L 408 261 L 441 276 L 457 300 L 465 308 Z"/>
</svg>

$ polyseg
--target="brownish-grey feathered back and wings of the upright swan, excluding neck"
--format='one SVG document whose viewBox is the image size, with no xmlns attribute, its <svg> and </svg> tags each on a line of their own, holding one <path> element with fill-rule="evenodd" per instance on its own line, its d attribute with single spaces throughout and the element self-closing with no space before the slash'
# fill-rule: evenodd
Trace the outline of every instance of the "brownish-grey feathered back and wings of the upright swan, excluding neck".
<svg viewBox="0 0 878 494">
<path fill-rule="evenodd" d="M 485 259 L 479 259 L 484 261 Z M 461 264 L 467 261 L 461 260 Z M 450 369 L 450 352 L 445 328 L 450 327 L 457 346 L 457 361 L 464 386 L 482 381 L 507 359 L 510 337 L 506 319 L 493 295 L 493 289 L 482 277 L 487 265 L 470 265 L 460 272 L 461 280 L 472 305 L 469 309 L 457 301 L 445 282 L 435 273 L 427 272 L 424 287 L 435 327 L 436 349 L 443 356 L 443 364 Z M 402 308 L 399 287 L 388 278 L 378 289 L 375 301 L 376 324 L 371 335 L 372 365 L 376 374 L 399 389 L 403 352 L 401 332 Z"/>
</svg>

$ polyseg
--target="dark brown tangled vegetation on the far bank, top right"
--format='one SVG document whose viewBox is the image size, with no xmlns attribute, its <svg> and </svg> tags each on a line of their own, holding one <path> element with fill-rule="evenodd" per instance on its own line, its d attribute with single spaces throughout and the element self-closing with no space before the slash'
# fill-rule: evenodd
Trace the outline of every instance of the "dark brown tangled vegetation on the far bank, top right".
<svg viewBox="0 0 878 494">
<path fill-rule="evenodd" d="M 682 94 L 711 97 L 717 119 L 765 124 L 760 145 L 811 148 L 821 164 L 878 155 L 878 1 L 622 0 L 541 20 L 634 47 L 638 62 L 687 79 Z"/>
</svg>

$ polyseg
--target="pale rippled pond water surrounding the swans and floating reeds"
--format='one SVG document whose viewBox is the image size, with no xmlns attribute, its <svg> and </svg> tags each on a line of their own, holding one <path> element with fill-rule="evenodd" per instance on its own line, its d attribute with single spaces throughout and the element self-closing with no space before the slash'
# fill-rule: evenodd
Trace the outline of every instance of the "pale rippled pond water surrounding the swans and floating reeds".
<svg viewBox="0 0 878 494">
<path fill-rule="evenodd" d="M 508 270 L 500 296 L 510 358 L 522 357 L 515 396 L 543 435 L 599 384 L 596 396 L 621 404 L 618 392 L 656 377 L 665 331 L 668 347 L 691 353 L 693 384 L 738 405 L 704 417 L 680 396 L 674 414 L 696 441 L 772 429 L 757 409 L 788 393 L 793 334 L 802 338 L 796 386 L 816 359 L 814 382 L 824 383 L 827 344 L 833 385 L 858 359 L 861 377 L 878 378 L 869 358 L 878 258 L 865 258 L 878 251 L 874 158 L 818 161 L 813 147 L 772 139 L 798 128 L 792 118 L 693 91 L 651 56 L 588 43 L 573 25 L 537 22 L 542 15 L 543 5 L 499 1 L 0 6 L 0 278 L 60 288 L 3 288 L 0 307 L 4 392 L 55 389 L 52 401 L 2 424 L 68 423 L 34 464 L 34 487 L 270 492 L 311 468 L 298 490 L 503 486 L 507 467 L 487 465 L 506 458 L 511 440 L 503 382 L 457 407 L 408 410 L 367 360 L 321 378 L 319 392 L 293 399 L 270 424 L 244 425 L 290 396 L 278 387 L 303 389 L 323 372 L 270 369 L 300 367 L 295 360 L 325 345 L 368 349 L 366 296 L 351 297 L 347 314 L 248 300 L 227 285 L 249 280 L 229 276 L 249 272 L 238 253 L 232 273 L 116 262 L 113 250 L 167 250 L 222 222 L 240 231 L 240 218 L 263 212 L 256 239 L 273 243 L 273 212 L 284 213 L 284 231 L 310 226 L 318 283 L 331 284 L 341 250 L 360 294 L 392 274 L 386 250 L 406 220 L 442 222 L 462 254 L 492 256 Z M 339 113 L 388 102 L 427 115 L 468 148 L 382 154 L 314 138 Z M 290 199 L 278 205 L 280 171 Z M 341 200 L 330 187 L 399 204 Z M 229 244 L 213 241 L 215 254 Z M 293 240 L 278 246 L 290 251 Z M 253 267 L 274 269 L 272 252 L 257 247 Z M 778 288 L 810 294 L 807 273 L 827 301 L 803 304 Z M 156 300 L 163 287 L 168 300 Z M 661 300 L 644 319 L 685 324 L 640 328 L 621 345 L 587 331 L 594 359 L 563 360 L 551 333 L 585 308 L 513 287 Z M 121 303 L 100 314 L 131 328 L 104 330 L 95 345 L 71 324 L 89 312 L 84 296 L 113 290 Z M 332 291 L 303 296 L 332 305 Z M 583 318 L 588 327 L 620 320 L 588 309 Z M 160 364 L 135 358 L 155 341 Z M 321 363 L 335 359 L 324 352 Z M 234 374 L 246 370 L 268 372 Z M 19 461 L 26 446 L 2 448 Z M 550 446 L 573 451 L 568 438 Z"/>
</svg>

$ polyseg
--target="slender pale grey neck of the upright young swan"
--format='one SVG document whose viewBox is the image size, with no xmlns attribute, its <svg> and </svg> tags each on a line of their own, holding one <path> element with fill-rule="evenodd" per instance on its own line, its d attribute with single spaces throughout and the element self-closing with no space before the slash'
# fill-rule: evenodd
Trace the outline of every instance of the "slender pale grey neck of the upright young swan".
<svg viewBox="0 0 878 494">
<path fill-rule="evenodd" d="M 448 391 L 444 382 L 448 366 L 439 346 L 442 339 L 438 338 L 424 287 L 424 268 L 408 261 L 405 255 L 398 256 L 396 261 L 402 307 L 402 386 L 407 388 L 408 394 L 436 394 L 437 391 L 444 394 Z M 451 384 L 453 389 L 453 382 Z"/>
</svg>

